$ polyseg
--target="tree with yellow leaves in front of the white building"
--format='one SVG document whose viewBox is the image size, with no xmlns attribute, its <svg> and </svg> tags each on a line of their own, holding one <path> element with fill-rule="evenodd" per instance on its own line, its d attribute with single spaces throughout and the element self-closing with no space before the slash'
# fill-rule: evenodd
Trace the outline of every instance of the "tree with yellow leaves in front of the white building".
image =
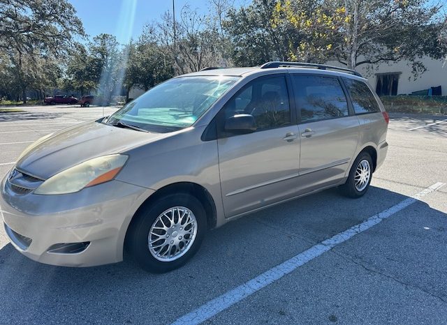
<svg viewBox="0 0 447 325">
<path fill-rule="evenodd" d="M 321 0 L 312 12 L 305 0 L 279 1 L 274 27 L 306 31 L 291 58 L 336 59 L 355 69 L 365 63 L 411 61 L 413 74 L 425 70 L 422 56 L 445 55 L 438 42 L 438 5 L 427 0 Z M 290 57 L 290 56 L 289 56 Z"/>
</svg>

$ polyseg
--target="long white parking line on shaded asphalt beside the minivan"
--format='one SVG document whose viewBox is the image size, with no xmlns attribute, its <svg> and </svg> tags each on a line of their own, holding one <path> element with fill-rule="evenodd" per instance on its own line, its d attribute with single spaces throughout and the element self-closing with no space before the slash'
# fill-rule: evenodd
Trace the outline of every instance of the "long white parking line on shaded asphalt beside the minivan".
<svg viewBox="0 0 447 325">
<path fill-rule="evenodd" d="M 219 314 L 219 312 L 230 308 L 235 303 L 242 301 L 244 298 L 251 296 L 251 294 L 258 292 L 258 290 L 261 290 L 284 277 L 284 275 L 287 275 L 288 273 L 295 271 L 295 269 L 298 269 L 298 267 L 312 261 L 312 259 L 315 259 L 323 253 L 328 252 L 328 250 L 331 250 L 336 245 L 344 243 L 353 236 L 356 236 L 356 234 L 365 232 L 365 230 L 377 225 L 383 219 L 393 216 L 393 214 L 405 209 L 410 204 L 417 202 L 421 197 L 424 197 L 425 195 L 428 195 L 445 185 L 445 183 L 435 183 L 429 188 L 425 188 L 425 190 L 418 192 L 416 195 L 413 195 L 413 197 L 404 199 L 395 206 L 391 206 L 389 209 L 367 218 L 367 220 L 360 222 L 358 225 L 355 225 L 344 232 L 340 232 L 339 234 L 332 236 L 330 239 L 326 239 L 325 241 L 312 246 L 308 250 L 305 250 L 304 252 L 295 255 L 291 259 L 288 259 L 286 262 L 274 266 L 272 269 L 261 273 L 256 278 L 245 282 L 243 285 L 240 285 L 239 287 L 236 287 L 235 289 L 214 298 L 212 301 L 205 303 L 205 305 L 201 305 L 196 310 L 193 310 L 192 312 L 189 312 L 188 314 L 177 319 L 173 322 L 173 324 L 200 324 L 201 322 L 205 322 L 207 319 Z"/>
</svg>

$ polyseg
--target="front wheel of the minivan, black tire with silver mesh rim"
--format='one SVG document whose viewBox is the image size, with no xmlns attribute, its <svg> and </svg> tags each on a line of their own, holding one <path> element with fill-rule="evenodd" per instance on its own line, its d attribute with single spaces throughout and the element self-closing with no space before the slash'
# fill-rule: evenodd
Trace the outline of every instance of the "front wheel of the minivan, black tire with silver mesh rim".
<svg viewBox="0 0 447 325">
<path fill-rule="evenodd" d="M 172 271 L 196 254 L 207 229 L 205 209 L 192 195 L 167 195 L 143 206 L 126 235 L 126 248 L 143 269 Z"/>
</svg>

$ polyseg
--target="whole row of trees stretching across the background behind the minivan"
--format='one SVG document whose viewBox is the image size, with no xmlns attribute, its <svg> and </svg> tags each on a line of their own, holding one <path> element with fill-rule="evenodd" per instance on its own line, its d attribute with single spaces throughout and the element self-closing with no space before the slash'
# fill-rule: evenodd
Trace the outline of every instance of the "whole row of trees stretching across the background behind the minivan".
<svg viewBox="0 0 447 325">
<path fill-rule="evenodd" d="M 207 66 L 337 60 L 350 68 L 447 59 L 447 20 L 430 0 L 209 0 L 206 15 L 165 13 L 128 44 L 85 38 L 68 0 L 0 0 L 0 97 L 96 93 L 103 102 Z"/>
</svg>

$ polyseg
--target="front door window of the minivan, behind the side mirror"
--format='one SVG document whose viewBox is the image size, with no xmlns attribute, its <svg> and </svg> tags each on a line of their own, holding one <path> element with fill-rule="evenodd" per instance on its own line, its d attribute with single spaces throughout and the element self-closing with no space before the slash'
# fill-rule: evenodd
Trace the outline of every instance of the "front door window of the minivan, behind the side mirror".
<svg viewBox="0 0 447 325">
<path fill-rule="evenodd" d="M 285 78 L 260 78 L 244 86 L 223 107 L 225 119 L 235 114 L 253 115 L 257 130 L 288 125 L 291 112 Z"/>
</svg>

